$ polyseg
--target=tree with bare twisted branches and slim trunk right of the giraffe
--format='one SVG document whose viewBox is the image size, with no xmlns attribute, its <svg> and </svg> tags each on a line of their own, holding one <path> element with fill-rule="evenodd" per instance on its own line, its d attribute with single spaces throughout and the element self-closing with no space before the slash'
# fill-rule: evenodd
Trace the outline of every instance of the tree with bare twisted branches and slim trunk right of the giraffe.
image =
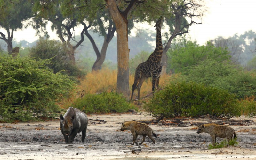
<svg viewBox="0 0 256 160">
<path fill-rule="evenodd" d="M 193 24 L 201 24 L 194 20 L 201 19 L 204 13 L 202 0 L 191 1 L 191 0 L 178 0 L 170 4 L 170 17 L 166 17 L 166 23 L 169 26 L 169 32 L 165 33 L 167 42 L 163 44 L 163 55 L 162 55 L 162 73 L 166 73 L 167 69 L 167 54 L 166 52 L 171 47 L 172 40 L 185 33 L 188 33 L 189 26 Z"/>
</svg>

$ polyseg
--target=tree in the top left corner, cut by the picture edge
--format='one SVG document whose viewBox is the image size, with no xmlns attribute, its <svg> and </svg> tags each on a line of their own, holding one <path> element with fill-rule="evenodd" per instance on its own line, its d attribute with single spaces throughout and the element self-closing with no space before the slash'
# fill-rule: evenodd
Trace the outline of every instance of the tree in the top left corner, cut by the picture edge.
<svg viewBox="0 0 256 160">
<path fill-rule="evenodd" d="M 33 16 L 32 3 L 28 0 L 0 1 L 0 8 L 0 29 L 7 33 L 0 31 L 0 39 L 7 43 L 7 51 L 11 53 L 14 31 L 26 27 L 23 22 Z"/>
</svg>

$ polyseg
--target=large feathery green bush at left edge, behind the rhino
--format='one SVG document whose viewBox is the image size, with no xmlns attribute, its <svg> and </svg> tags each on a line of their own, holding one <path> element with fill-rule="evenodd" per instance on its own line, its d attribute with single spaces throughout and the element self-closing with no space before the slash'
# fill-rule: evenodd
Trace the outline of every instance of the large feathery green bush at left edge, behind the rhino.
<svg viewBox="0 0 256 160">
<path fill-rule="evenodd" d="M 57 102 L 68 98 L 75 84 L 47 64 L 49 60 L 0 55 L 0 121 L 27 121 L 60 110 Z"/>
</svg>

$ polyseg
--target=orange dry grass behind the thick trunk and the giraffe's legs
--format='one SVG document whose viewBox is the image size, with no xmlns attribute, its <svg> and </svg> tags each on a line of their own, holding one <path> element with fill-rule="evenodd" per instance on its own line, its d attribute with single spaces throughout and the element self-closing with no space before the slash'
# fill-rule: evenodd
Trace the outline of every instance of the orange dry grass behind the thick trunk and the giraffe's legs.
<svg viewBox="0 0 256 160">
<path fill-rule="evenodd" d="M 169 82 L 171 75 L 164 74 L 160 77 L 159 86 L 163 88 Z M 80 79 L 80 85 L 77 94 L 101 93 L 116 91 L 117 70 L 101 69 L 100 71 L 92 71 L 88 73 L 83 79 Z M 129 90 L 132 93 L 132 84 L 134 82 L 134 75 L 129 76 Z M 146 79 L 140 89 L 140 97 L 145 97 L 152 92 L 152 79 Z M 134 91 L 134 97 L 137 96 L 137 91 Z"/>
</svg>

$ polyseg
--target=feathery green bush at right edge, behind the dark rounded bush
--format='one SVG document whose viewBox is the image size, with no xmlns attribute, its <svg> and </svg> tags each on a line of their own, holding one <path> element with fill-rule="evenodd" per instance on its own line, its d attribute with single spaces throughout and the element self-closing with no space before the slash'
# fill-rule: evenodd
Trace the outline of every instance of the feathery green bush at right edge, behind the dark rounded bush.
<svg viewBox="0 0 256 160">
<path fill-rule="evenodd" d="M 236 94 L 236 98 L 244 98 L 256 94 L 256 79 L 252 73 L 229 62 L 207 59 L 188 69 L 184 78 L 225 89 Z"/>
</svg>

